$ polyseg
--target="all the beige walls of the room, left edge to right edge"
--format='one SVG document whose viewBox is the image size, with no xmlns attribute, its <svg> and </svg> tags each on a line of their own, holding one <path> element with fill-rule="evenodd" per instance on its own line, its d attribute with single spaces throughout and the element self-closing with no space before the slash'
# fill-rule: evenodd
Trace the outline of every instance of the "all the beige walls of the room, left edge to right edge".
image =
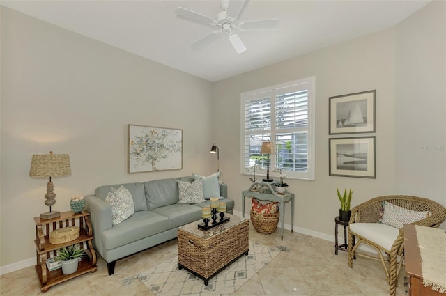
<svg viewBox="0 0 446 296">
<path fill-rule="evenodd" d="M 355 190 L 353 205 L 380 194 L 417 194 L 446 205 L 445 152 L 420 149 L 445 145 L 442 1 L 394 28 L 215 84 L 1 10 L 1 267 L 34 255 L 32 217 L 47 210 L 46 180 L 28 176 L 34 153 L 70 154 L 72 176 L 54 178 L 55 209 L 68 210 L 69 196 L 98 185 L 212 173 L 208 150 L 216 141 L 222 180 L 240 212 L 240 192 L 249 185 L 248 176 L 240 177 L 240 93 L 309 76 L 316 76 L 316 180 L 287 180 L 296 194 L 295 229 L 332 238 L 336 187 Z M 328 97 L 371 89 L 377 178 L 328 176 Z M 415 116 L 429 130 L 413 125 Z M 128 175 L 128 123 L 182 128 L 184 169 Z M 289 208 L 285 214 L 290 224 Z"/>
</svg>

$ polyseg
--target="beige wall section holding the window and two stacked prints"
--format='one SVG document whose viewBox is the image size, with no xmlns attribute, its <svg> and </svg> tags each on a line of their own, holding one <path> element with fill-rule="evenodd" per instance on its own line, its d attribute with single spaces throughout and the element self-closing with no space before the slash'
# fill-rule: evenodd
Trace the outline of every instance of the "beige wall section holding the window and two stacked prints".
<svg viewBox="0 0 446 296">
<path fill-rule="evenodd" d="M 238 197 L 249 186 L 249 176 L 240 178 L 240 149 L 231 149 L 240 145 L 240 93 L 310 76 L 316 77 L 316 180 L 287 179 L 289 191 L 296 196 L 294 225 L 332 235 L 334 217 L 339 213 L 337 187 L 355 191 L 352 205 L 394 192 L 394 72 L 394 29 L 387 29 L 217 82 L 215 110 L 219 112 L 215 122 L 224 123 L 220 125 L 224 128 L 215 125 L 215 132 L 221 150 L 230 154 L 222 156 L 230 195 Z M 376 180 L 328 176 L 328 98 L 373 89 Z M 241 211 L 240 203 L 236 210 Z M 290 217 L 287 209 L 288 224 Z"/>
</svg>

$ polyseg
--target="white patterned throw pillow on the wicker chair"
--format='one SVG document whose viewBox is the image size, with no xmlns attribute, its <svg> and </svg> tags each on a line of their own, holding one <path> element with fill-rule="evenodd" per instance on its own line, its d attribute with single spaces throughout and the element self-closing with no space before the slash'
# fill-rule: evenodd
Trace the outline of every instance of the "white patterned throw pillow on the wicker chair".
<svg viewBox="0 0 446 296">
<path fill-rule="evenodd" d="M 383 217 L 380 219 L 382 224 L 401 228 L 404 224 L 410 224 L 415 221 L 420 221 L 432 215 L 431 212 L 414 211 L 406 208 L 401 208 L 393 203 L 383 201 Z"/>
</svg>

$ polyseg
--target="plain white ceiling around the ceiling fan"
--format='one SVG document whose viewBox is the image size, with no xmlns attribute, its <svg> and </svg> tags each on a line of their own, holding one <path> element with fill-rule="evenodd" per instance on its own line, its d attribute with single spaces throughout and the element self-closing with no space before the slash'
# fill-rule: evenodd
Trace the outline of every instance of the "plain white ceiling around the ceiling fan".
<svg viewBox="0 0 446 296">
<path fill-rule="evenodd" d="M 280 20 L 277 31 L 239 32 L 247 51 L 236 54 L 226 36 L 200 50 L 190 45 L 213 27 L 178 17 L 183 6 L 215 18 L 220 1 L 22 1 L 1 5 L 146 59 L 218 81 L 293 56 L 394 26 L 430 0 L 251 0 L 240 21 Z"/>
</svg>

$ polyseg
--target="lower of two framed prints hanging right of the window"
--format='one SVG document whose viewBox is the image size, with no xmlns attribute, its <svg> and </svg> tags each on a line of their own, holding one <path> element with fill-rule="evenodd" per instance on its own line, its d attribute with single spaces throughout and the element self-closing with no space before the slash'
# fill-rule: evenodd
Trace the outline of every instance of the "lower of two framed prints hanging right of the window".
<svg viewBox="0 0 446 296">
<path fill-rule="evenodd" d="M 376 179 L 375 137 L 328 139 L 329 175 Z"/>
</svg>

